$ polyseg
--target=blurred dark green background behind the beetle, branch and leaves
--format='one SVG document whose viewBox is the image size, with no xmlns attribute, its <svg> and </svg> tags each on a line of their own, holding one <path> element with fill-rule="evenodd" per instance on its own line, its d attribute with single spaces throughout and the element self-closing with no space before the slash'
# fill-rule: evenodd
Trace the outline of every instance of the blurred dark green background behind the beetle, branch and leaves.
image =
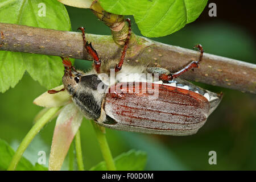
<svg viewBox="0 0 256 182">
<path fill-rule="evenodd" d="M 255 6 L 241 1 L 209 1 L 217 4 L 217 17 L 209 17 L 208 6 L 199 18 L 172 35 L 154 40 L 192 48 L 200 43 L 205 52 L 256 64 Z M 68 7 L 73 31 L 84 26 L 90 34 L 110 35 L 111 32 L 90 10 Z M 254 16 L 254 18 L 253 18 Z M 251 17 L 251 18 L 250 18 Z M 134 22 L 132 17 L 132 22 Z M 132 29 L 141 35 L 137 25 Z M 89 69 L 92 62 L 76 60 L 80 69 Z M 43 69 L 43 68 L 42 68 Z M 252 170 L 256 169 L 256 97 L 254 94 L 195 83 L 214 92 L 223 92 L 224 98 L 199 132 L 187 137 L 172 137 L 127 133 L 107 129 L 107 138 L 113 156 L 131 148 L 146 151 L 147 170 Z M 32 101 L 46 88 L 25 73 L 22 81 L 0 94 L 0 138 L 15 149 L 31 129 L 35 115 L 42 109 Z M 55 120 L 48 123 L 28 147 L 24 156 L 32 163 L 38 151 L 49 156 Z M 101 162 L 102 155 L 92 125 L 81 125 L 82 152 L 85 168 Z M 209 165 L 209 151 L 217 152 L 217 165 Z M 67 169 L 67 162 L 62 169 Z"/>
</svg>

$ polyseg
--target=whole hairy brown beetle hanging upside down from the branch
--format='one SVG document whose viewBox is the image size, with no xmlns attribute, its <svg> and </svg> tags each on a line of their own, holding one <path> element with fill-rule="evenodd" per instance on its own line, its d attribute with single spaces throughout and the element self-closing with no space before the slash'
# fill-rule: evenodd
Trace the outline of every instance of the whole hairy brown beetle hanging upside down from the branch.
<svg viewBox="0 0 256 182">
<path fill-rule="evenodd" d="M 198 61 L 191 61 L 175 73 L 144 65 L 130 66 L 124 63 L 131 36 L 131 22 L 126 20 L 129 32 L 120 60 L 101 60 L 92 44 L 86 41 L 84 28 L 78 28 L 86 51 L 93 57 L 93 69 L 87 73 L 77 71 L 68 57 L 61 57 L 65 67 L 64 88 L 48 93 L 67 90 L 86 118 L 111 129 L 163 135 L 195 134 L 222 98 L 222 94 L 179 78 L 198 67 L 203 59 L 203 47 L 195 46 L 200 51 Z M 122 76 L 115 77 L 114 81 L 102 76 L 110 76 L 111 71 Z M 151 73 L 158 75 L 159 80 L 145 80 L 139 74 L 129 77 L 131 73 Z M 157 97 L 152 98 L 154 92 Z"/>
</svg>

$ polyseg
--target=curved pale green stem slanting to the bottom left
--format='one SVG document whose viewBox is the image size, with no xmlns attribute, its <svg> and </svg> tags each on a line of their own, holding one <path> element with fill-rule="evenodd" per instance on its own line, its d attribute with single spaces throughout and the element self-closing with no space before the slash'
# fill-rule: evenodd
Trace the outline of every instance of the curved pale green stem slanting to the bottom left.
<svg viewBox="0 0 256 182">
<path fill-rule="evenodd" d="M 22 140 L 20 143 L 18 149 L 16 150 L 13 160 L 11 160 L 11 163 L 8 167 L 8 171 L 14 171 L 20 158 L 23 155 L 23 152 L 26 150 L 32 139 L 34 139 L 35 135 L 38 134 L 38 132 L 42 129 L 46 123 L 52 119 L 53 115 L 57 113 L 57 111 L 60 109 L 60 107 L 52 107 L 49 109 L 43 116 L 40 118 L 34 126 L 28 131 L 26 137 Z"/>
</svg>

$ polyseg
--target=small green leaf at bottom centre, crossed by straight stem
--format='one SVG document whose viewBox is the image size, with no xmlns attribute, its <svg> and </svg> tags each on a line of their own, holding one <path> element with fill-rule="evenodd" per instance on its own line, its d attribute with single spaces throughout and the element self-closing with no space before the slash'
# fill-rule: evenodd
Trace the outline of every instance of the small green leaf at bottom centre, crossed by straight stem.
<svg viewBox="0 0 256 182">
<path fill-rule="evenodd" d="M 118 171 L 142 171 L 146 166 L 147 154 L 143 151 L 130 150 L 114 159 Z M 90 168 L 90 171 L 106 171 L 106 162 Z"/>
</svg>

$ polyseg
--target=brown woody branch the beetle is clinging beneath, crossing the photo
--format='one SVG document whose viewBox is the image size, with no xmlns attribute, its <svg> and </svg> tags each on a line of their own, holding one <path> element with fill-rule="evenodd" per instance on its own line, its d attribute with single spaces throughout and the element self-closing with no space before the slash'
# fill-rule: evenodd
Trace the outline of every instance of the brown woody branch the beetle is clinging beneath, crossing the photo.
<svg viewBox="0 0 256 182">
<path fill-rule="evenodd" d="M 82 43 L 78 32 L 57 31 L 44 28 L 0 23 L 0 50 L 38 53 L 42 55 L 68 56 L 76 59 L 92 60 Z M 112 36 L 86 34 L 101 59 L 119 59 L 122 47 Z M 199 52 L 177 46 L 170 46 L 141 36 L 127 51 L 129 64 L 146 64 L 150 67 L 162 67 L 176 71 L 191 59 L 197 59 Z M 0 60 L 1 61 L 1 60 Z M 184 73 L 181 78 L 204 82 L 210 85 L 236 89 L 242 92 L 256 93 L 256 65 L 204 53 L 200 69 Z"/>
</svg>

